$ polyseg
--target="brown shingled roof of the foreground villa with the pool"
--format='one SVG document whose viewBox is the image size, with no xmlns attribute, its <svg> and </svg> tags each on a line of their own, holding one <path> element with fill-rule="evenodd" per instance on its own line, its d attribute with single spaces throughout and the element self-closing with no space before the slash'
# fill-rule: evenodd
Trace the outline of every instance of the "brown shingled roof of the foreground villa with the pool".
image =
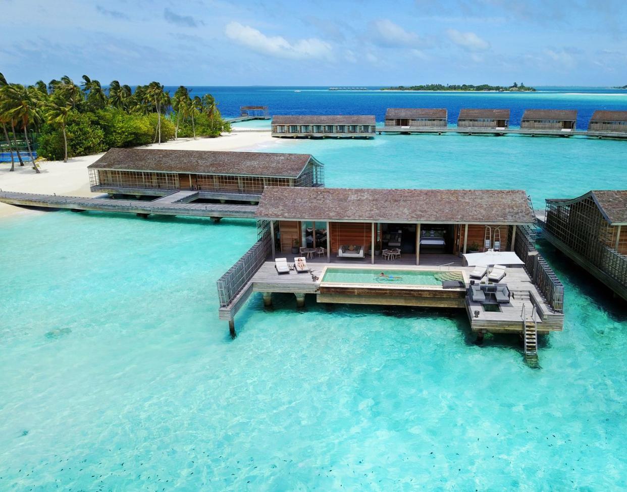
<svg viewBox="0 0 627 492">
<path fill-rule="evenodd" d="M 531 223 L 522 190 L 266 187 L 255 217 L 421 223 Z"/>
</svg>

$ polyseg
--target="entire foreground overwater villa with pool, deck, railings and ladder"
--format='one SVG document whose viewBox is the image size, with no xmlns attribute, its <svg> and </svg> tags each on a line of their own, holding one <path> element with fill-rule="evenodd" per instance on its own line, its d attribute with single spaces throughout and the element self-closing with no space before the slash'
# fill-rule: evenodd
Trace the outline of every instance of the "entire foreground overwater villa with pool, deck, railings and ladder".
<svg viewBox="0 0 627 492">
<path fill-rule="evenodd" d="M 465 309 L 473 331 L 520 333 L 529 353 L 562 329 L 563 287 L 533 246 L 524 191 L 268 187 L 255 217 L 258 242 L 218 281 L 233 336 L 251 292 Z"/>
</svg>

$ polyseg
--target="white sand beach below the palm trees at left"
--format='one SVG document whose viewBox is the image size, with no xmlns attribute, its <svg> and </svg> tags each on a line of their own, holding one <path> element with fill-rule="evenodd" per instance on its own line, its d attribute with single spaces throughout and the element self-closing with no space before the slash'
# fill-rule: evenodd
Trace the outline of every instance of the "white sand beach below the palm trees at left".
<svg viewBox="0 0 627 492">
<path fill-rule="evenodd" d="M 246 130 L 238 127 L 238 130 Z M 179 139 L 176 141 L 154 144 L 142 148 L 150 149 L 182 149 L 205 151 L 253 151 L 277 144 L 272 139 L 270 131 L 246 132 L 233 131 L 219 138 Z M 0 163 L 0 190 L 24 191 L 25 193 L 56 193 L 70 196 L 97 196 L 89 189 L 87 166 L 97 161 L 103 154 L 82 156 L 63 161 L 41 161 L 41 174 L 36 174 L 29 163 L 23 167 L 19 163 L 11 173 L 11 163 Z M 0 218 L 18 214 L 34 215 L 44 213 L 37 210 L 27 210 L 14 205 L 0 203 Z"/>
</svg>

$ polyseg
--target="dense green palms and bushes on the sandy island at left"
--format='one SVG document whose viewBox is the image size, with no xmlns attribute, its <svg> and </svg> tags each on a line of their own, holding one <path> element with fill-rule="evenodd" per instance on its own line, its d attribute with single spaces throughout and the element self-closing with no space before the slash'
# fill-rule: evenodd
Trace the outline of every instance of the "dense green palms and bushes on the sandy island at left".
<svg viewBox="0 0 627 492">
<path fill-rule="evenodd" d="M 133 92 L 117 80 L 103 89 L 98 80 L 83 75 L 81 87 L 67 76 L 48 85 L 40 80 L 24 87 L 8 83 L 2 73 L 0 126 L 11 151 L 11 171 L 15 169 L 14 154 L 24 165 L 20 142 L 32 156 L 34 134 L 39 136 L 39 156 L 67 162 L 68 158 L 111 147 L 161 143 L 178 137 L 217 137 L 231 131 L 213 96 L 192 99 L 182 85 L 171 97 L 158 82 L 138 85 Z M 33 169 L 40 172 L 34 164 Z"/>
</svg>

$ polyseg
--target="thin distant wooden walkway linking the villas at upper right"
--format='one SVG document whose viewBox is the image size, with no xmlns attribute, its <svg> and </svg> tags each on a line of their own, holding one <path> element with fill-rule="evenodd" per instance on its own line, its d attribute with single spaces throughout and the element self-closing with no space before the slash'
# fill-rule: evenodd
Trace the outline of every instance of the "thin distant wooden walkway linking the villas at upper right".
<svg viewBox="0 0 627 492">
<path fill-rule="evenodd" d="M 627 139 L 627 133 L 621 132 L 594 132 L 584 130 L 545 130 L 545 129 L 520 129 L 520 128 L 459 128 L 459 127 L 445 127 L 445 128 L 429 128 L 429 127 L 401 127 L 401 126 L 380 126 L 377 127 L 377 133 L 394 134 L 394 133 L 408 133 L 408 134 L 421 134 L 421 133 L 460 133 L 466 135 L 529 135 L 529 136 L 542 136 L 542 137 L 593 137 L 598 139 Z"/>
</svg>

